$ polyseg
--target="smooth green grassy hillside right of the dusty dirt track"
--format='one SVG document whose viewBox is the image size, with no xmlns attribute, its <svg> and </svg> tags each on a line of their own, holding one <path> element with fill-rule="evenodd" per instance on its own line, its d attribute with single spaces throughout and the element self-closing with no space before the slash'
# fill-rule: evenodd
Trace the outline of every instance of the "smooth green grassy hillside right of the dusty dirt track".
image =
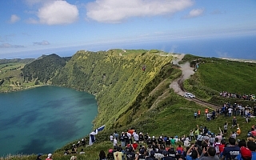
<svg viewBox="0 0 256 160">
<path fill-rule="evenodd" d="M 190 62 L 193 62 L 192 59 L 198 58 L 190 58 Z M 198 98 L 219 105 L 224 102 L 242 102 L 245 105 L 254 105 L 254 102 L 238 98 L 222 98 L 219 93 L 226 91 L 240 95 L 256 94 L 255 63 L 234 62 L 219 58 L 200 58 L 198 62 L 198 71 L 184 82 L 186 90 L 197 94 Z"/>
</svg>

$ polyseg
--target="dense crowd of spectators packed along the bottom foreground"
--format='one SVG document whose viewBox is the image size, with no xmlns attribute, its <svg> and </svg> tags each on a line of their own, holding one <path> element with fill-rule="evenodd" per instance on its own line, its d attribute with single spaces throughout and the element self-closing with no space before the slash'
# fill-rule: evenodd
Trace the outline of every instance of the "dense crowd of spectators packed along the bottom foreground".
<svg viewBox="0 0 256 160">
<path fill-rule="evenodd" d="M 113 148 L 107 154 L 101 150 L 99 160 L 256 159 L 256 128 L 252 126 L 248 138 L 239 140 L 237 136 L 241 134 L 241 130 L 238 123 L 233 123 L 232 119 L 231 127 L 238 127 L 239 130 L 230 135 L 227 135 L 227 126 L 225 124 L 224 130 L 219 128 L 219 133 L 214 134 L 206 126 L 197 125 L 196 130 L 190 130 L 190 134 L 181 137 L 151 137 L 142 132 L 138 134 L 133 129 L 121 134 L 114 132 L 110 135 Z"/>
</svg>

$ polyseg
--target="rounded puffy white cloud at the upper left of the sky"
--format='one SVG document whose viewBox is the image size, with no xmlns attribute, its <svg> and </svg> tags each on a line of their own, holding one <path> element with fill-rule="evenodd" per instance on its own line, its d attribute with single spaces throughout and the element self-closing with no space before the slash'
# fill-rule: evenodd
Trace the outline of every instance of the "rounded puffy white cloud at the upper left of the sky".
<svg viewBox="0 0 256 160">
<path fill-rule="evenodd" d="M 38 18 L 47 25 L 70 24 L 78 19 L 78 8 L 66 1 L 47 2 L 38 10 Z"/>
</svg>

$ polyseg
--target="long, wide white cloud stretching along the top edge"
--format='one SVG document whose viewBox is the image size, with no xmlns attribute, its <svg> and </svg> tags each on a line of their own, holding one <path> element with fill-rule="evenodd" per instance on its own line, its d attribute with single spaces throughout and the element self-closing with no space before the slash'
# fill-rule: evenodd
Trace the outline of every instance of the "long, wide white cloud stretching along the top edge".
<svg viewBox="0 0 256 160">
<path fill-rule="evenodd" d="M 130 17 L 174 14 L 192 5 L 192 0 L 96 0 L 86 5 L 86 15 L 98 22 L 114 23 Z"/>
</svg>

